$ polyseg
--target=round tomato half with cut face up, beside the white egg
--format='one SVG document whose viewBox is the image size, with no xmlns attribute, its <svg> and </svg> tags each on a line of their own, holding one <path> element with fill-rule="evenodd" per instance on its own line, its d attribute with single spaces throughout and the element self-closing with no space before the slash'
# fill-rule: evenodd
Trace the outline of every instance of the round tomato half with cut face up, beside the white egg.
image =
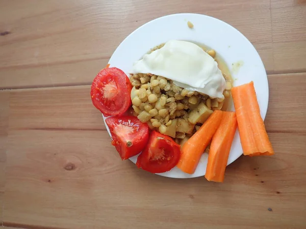
<svg viewBox="0 0 306 229">
<path fill-rule="evenodd" d="M 121 116 L 132 104 L 132 84 L 118 68 L 102 69 L 91 85 L 93 105 L 105 116 Z"/>
</svg>

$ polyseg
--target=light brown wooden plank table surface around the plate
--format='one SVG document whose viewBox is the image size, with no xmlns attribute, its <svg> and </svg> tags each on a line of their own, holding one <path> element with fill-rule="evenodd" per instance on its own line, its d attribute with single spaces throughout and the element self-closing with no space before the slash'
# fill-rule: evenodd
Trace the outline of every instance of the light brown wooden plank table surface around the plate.
<svg viewBox="0 0 306 229">
<path fill-rule="evenodd" d="M 121 161 L 89 97 L 127 35 L 180 12 L 238 28 L 268 73 L 275 155 L 240 157 L 223 184 Z M 305 0 L 2 0 L 0 35 L 6 228 L 306 228 Z"/>
</svg>

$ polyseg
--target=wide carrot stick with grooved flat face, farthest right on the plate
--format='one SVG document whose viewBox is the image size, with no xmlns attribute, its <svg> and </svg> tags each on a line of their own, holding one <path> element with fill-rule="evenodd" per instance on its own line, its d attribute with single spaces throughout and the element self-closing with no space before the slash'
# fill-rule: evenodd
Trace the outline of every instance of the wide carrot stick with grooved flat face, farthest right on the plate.
<svg viewBox="0 0 306 229">
<path fill-rule="evenodd" d="M 253 81 L 232 88 L 238 129 L 244 155 L 273 155 L 264 121 L 254 89 Z"/>
</svg>

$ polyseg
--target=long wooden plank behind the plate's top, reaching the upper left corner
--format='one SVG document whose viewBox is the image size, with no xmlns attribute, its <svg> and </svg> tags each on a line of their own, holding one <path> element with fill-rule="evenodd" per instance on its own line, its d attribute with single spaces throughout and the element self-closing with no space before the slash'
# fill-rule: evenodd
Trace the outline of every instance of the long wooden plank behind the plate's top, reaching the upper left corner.
<svg viewBox="0 0 306 229">
<path fill-rule="evenodd" d="M 235 26 L 272 72 L 269 6 L 269 0 L 2 1 L 0 32 L 8 34 L 0 37 L 0 88 L 89 84 L 127 35 L 177 12 L 207 14 Z"/>
</svg>

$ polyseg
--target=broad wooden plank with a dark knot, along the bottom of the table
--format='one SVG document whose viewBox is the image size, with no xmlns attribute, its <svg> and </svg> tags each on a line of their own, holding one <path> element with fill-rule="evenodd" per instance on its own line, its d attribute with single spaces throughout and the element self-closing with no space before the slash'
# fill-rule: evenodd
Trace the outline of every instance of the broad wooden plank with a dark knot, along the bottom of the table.
<svg viewBox="0 0 306 229">
<path fill-rule="evenodd" d="M 90 131 L 49 132 L 14 131 L 12 135 L 22 148 L 14 147 L 8 160 L 5 225 L 202 228 L 205 223 L 211 228 L 221 216 L 223 228 L 233 224 L 288 228 L 306 223 L 300 135 L 270 134 L 277 156 L 239 159 L 228 167 L 220 185 L 204 178 L 175 180 L 145 173 L 130 161 L 120 161 L 112 148 L 99 149 L 98 140 L 109 138 L 92 139 L 96 134 Z M 45 144 L 35 144 L 33 137 Z M 65 170 L 68 162 L 76 168 Z"/>
</svg>

